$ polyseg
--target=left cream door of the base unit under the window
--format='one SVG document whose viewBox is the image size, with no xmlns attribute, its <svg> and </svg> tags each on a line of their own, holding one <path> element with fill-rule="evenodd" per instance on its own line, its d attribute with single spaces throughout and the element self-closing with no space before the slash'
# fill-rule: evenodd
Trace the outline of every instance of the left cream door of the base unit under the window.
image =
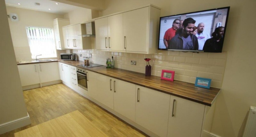
<svg viewBox="0 0 256 137">
<path fill-rule="evenodd" d="M 39 84 L 39 75 L 37 64 L 18 65 L 21 86 Z"/>
</svg>

